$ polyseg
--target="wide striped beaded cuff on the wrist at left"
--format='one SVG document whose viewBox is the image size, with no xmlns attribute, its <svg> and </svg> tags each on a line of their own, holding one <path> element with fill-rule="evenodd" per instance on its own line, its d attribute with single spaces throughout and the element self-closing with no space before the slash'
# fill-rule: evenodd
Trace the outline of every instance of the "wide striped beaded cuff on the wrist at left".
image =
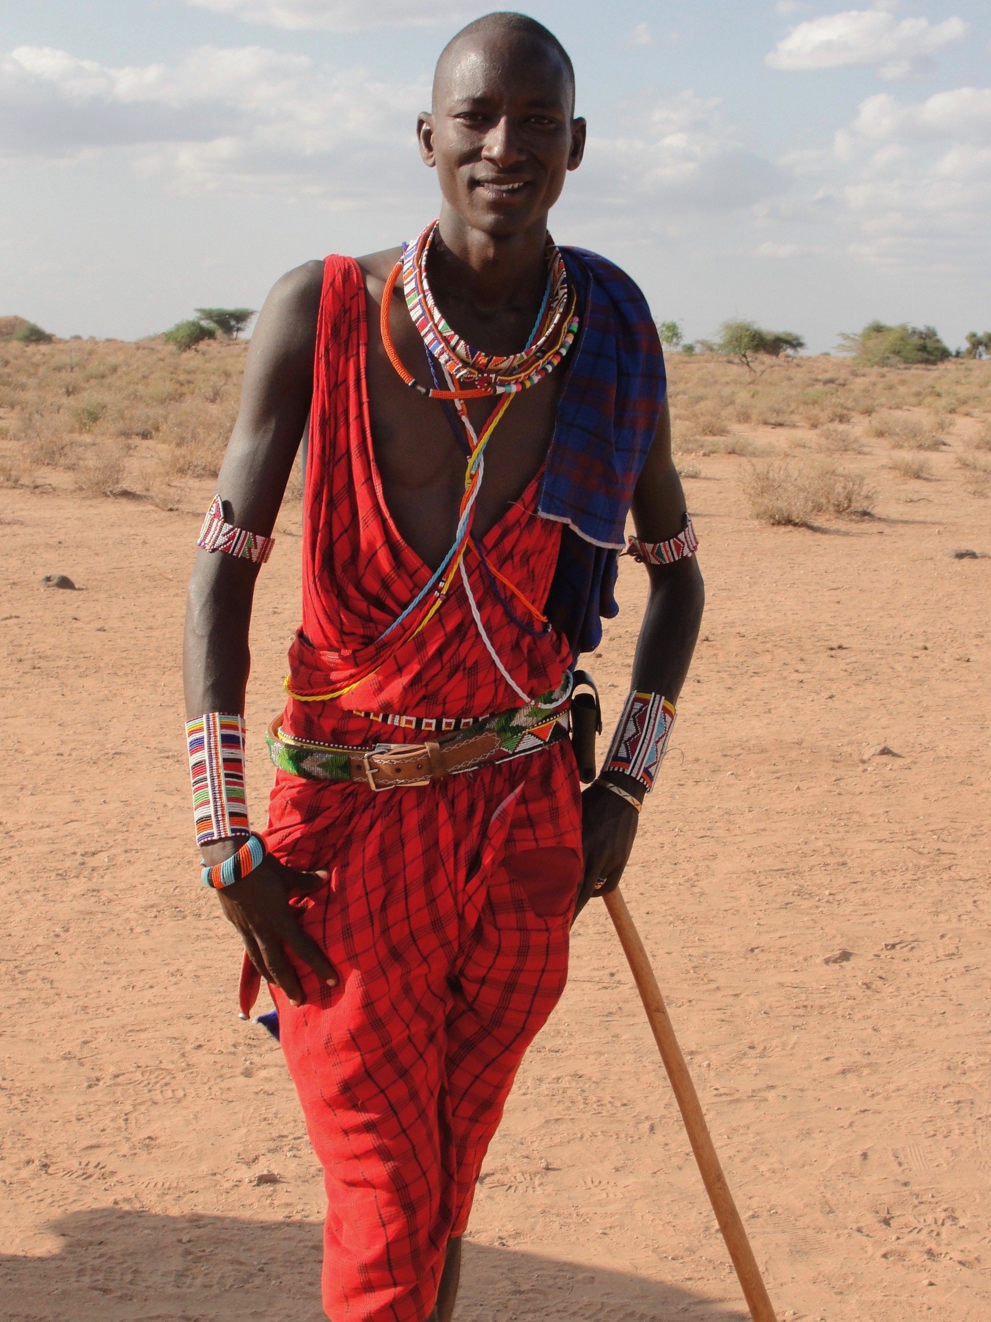
<svg viewBox="0 0 991 1322">
<path fill-rule="evenodd" d="M 250 836 L 244 796 L 244 718 L 207 711 L 186 722 L 197 845 Z"/>
</svg>

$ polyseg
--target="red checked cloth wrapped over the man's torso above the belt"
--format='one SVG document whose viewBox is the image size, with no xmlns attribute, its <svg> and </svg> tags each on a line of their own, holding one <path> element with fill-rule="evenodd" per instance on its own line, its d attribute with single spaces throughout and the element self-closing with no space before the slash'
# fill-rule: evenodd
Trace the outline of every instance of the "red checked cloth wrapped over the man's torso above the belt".
<svg viewBox="0 0 991 1322">
<path fill-rule="evenodd" d="M 404 542 L 382 494 L 374 460 L 365 354 L 367 327 L 361 268 L 350 258 L 325 263 L 317 323 L 316 371 L 307 460 L 303 545 L 303 628 L 289 652 L 291 687 L 326 693 L 354 668 L 385 652 L 377 640 L 429 580 Z M 562 526 L 534 518 L 539 475 L 481 545 L 492 567 L 538 608 L 554 578 Z M 485 631 L 515 683 L 531 698 L 555 689 L 571 660 L 554 629 L 518 627 L 489 590 L 478 558 L 465 566 Z M 338 744 L 418 742 L 412 727 L 382 727 L 363 713 L 460 719 L 521 706 L 478 637 L 468 598 L 451 595 L 415 639 L 346 697 L 289 698 L 284 728 L 299 739 Z"/>
</svg>

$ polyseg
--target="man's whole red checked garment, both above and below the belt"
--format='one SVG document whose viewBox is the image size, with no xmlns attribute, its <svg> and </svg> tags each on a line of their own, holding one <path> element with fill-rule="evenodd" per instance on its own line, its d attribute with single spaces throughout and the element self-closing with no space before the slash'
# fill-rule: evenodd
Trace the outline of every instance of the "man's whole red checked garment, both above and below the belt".
<svg viewBox="0 0 991 1322">
<path fill-rule="evenodd" d="M 358 266 L 328 258 L 320 309 L 303 628 L 291 686 L 346 678 L 427 582 L 382 496 L 369 430 L 365 292 Z M 492 566 L 543 604 L 562 525 L 535 517 L 538 480 L 484 539 Z M 468 571 L 485 628 L 531 695 L 563 678 L 554 629 L 511 621 L 477 557 Z M 358 711 L 470 717 L 519 706 L 459 583 L 427 629 L 336 702 L 289 699 L 284 727 L 349 744 L 418 742 L 416 730 Z M 341 976 L 300 968 L 308 1003 L 275 990 L 281 1043 L 326 1179 L 324 1306 L 333 1322 L 423 1322 L 447 1243 L 464 1232 L 513 1077 L 567 974 L 581 874 L 581 810 L 571 744 L 374 793 L 279 773 L 268 847 L 292 867 L 328 869 L 300 902 L 305 929 Z"/>
</svg>

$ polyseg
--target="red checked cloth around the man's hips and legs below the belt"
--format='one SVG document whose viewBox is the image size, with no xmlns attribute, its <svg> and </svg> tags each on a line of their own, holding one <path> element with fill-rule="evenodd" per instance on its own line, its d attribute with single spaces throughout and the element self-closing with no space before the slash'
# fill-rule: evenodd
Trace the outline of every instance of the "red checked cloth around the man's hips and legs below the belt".
<svg viewBox="0 0 991 1322">
<path fill-rule="evenodd" d="M 297 964 L 308 1003 L 274 992 L 325 1173 L 324 1307 L 423 1322 L 564 988 L 581 875 L 571 744 L 382 795 L 279 773 L 266 841 L 330 871 L 299 910 L 341 984 Z"/>
</svg>

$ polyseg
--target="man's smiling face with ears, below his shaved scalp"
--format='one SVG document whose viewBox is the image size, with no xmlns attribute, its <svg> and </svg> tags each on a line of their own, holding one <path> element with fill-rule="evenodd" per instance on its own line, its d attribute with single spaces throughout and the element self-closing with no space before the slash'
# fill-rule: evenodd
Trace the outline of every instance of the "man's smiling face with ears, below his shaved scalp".
<svg viewBox="0 0 991 1322">
<path fill-rule="evenodd" d="M 542 223 L 581 163 L 585 122 L 572 118 L 573 102 L 548 42 L 498 29 L 456 41 L 437 65 L 433 111 L 419 122 L 447 206 L 493 238 Z"/>
</svg>

